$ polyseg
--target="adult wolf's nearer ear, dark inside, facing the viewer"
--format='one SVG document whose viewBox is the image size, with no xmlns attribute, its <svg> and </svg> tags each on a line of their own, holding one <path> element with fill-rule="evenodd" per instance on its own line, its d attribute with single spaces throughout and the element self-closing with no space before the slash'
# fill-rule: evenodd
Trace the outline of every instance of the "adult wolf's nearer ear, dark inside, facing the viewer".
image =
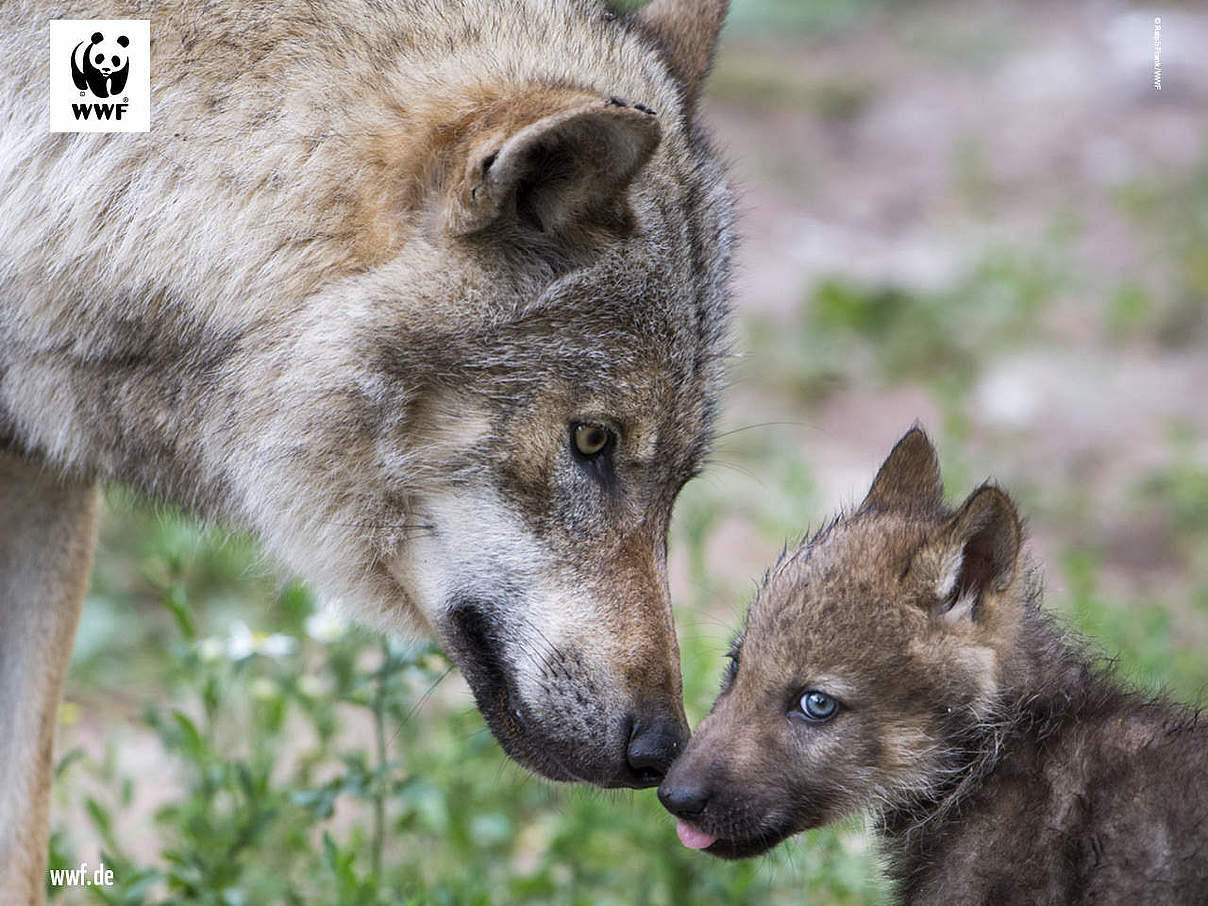
<svg viewBox="0 0 1208 906">
<path fill-rule="evenodd" d="M 632 228 L 627 190 L 658 139 L 654 115 L 620 101 L 546 116 L 470 153 L 446 227 L 454 236 L 488 227 L 546 239 L 623 234 Z"/>
</svg>

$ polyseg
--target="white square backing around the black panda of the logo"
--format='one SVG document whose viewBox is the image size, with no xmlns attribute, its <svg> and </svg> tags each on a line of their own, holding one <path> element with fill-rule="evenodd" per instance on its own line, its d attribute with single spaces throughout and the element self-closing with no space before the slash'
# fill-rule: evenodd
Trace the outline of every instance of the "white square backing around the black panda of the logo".
<svg viewBox="0 0 1208 906">
<path fill-rule="evenodd" d="M 98 97 L 89 86 L 79 87 L 72 77 L 72 54 L 77 47 L 81 51 L 87 48 L 97 33 L 104 37 L 104 43 L 97 52 L 116 50 L 128 60 L 126 85 L 112 97 Z M 128 39 L 126 46 L 116 43 L 120 36 Z M 83 47 L 80 47 L 81 42 Z M 151 129 L 151 22 L 149 19 L 52 19 L 50 63 L 51 132 Z M 106 82 L 106 88 L 109 85 L 111 82 Z"/>
</svg>

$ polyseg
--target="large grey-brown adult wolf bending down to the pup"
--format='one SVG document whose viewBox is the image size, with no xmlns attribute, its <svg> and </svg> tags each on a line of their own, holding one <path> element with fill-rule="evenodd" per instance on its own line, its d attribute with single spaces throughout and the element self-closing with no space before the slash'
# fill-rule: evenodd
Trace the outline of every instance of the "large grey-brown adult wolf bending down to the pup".
<svg viewBox="0 0 1208 906">
<path fill-rule="evenodd" d="M 6 884 L 41 885 L 98 480 L 434 632 L 528 767 L 658 780 L 687 733 L 666 533 L 724 356 L 693 108 L 725 7 L 4 5 Z M 146 16 L 151 132 L 50 134 L 48 21 Z"/>
</svg>

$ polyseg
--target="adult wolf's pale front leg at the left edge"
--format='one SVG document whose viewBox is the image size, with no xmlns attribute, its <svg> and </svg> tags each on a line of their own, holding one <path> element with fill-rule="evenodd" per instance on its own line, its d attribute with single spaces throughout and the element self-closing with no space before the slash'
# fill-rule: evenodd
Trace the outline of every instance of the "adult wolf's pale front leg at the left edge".
<svg viewBox="0 0 1208 906">
<path fill-rule="evenodd" d="M 97 490 L 0 452 L 0 905 L 41 904 L 56 712 Z"/>
</svg>

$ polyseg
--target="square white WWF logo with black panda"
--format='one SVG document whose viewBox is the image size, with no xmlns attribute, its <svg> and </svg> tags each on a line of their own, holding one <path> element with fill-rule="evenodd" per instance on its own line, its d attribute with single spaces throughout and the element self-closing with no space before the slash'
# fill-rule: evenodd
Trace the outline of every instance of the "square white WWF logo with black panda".
<svg viewBox="0 0 1208 906">
<path fill-rule="evenodd" d="M 52 19 L 51 60 L 52 132 L 151 128 L 150 22 Z"/>
</svg>

